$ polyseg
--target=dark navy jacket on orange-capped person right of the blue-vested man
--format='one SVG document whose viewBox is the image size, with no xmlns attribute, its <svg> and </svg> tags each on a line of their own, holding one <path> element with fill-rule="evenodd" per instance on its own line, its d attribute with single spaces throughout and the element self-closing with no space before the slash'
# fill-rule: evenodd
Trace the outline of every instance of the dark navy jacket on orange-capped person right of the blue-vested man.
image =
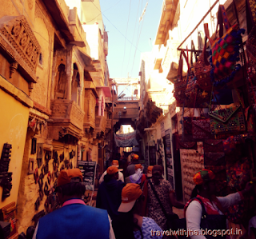
<svg viewBox="0 0 256 239">
<path fill-rule="evenodd" d="M 119 215 L 118 208 L 122 202 L 121 193 L 124 186 L 124 182 L 115 179 L 102 181 L 99 185 L 96 207 L 106 209 L 112 220 Z"/>
</svg>

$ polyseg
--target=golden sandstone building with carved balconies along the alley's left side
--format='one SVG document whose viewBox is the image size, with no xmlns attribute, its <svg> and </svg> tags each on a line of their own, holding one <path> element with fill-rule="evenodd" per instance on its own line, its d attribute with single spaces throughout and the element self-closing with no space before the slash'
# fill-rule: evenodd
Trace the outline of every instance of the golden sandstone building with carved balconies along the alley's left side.
<svg viewBox="0 0 256 239">
<path fill-rule="evenodd" d="M 78 160 L 103 165 L 101 145 L 110 129 L 107 33 L 98 12 L 77 2 L 2 1 L 0 142 L 12 149 L 0 177 L 12 177 L 12 188 L 2 181 L 0 209 L 17 205 L 14 233 L 49 211 L 46 199 L 59 170 Z M 98 22 L 89 22 L 95 16 Z"/>
</svg>

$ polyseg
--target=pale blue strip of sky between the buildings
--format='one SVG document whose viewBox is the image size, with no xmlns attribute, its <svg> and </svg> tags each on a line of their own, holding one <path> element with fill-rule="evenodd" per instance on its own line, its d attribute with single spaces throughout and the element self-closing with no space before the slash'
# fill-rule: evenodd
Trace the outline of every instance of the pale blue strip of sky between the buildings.
<svg viewBox="0 0 256 239">
<path fill-rule="evenodd" d="M 148 2 L 146 12 L 139 22 L 146 2 Z M 138 78 L 141 53 L 151 51 L 154 45 L 162 2 L 162 0 L 100 0 L 102 18 L 109 38 L 107 62 L 110 78 L 126 78 L 128 73 L 129 77 Z"/>
</svg>

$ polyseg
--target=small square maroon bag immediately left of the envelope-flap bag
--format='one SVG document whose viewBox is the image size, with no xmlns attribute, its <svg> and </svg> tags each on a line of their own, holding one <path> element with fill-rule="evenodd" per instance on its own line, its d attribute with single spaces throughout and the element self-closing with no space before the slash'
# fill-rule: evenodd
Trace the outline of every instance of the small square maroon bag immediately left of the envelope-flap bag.
<svg viewBox="0 0 256 239">
<path fill-rule="evenodd" d="M 192 135 L 194 139 L 200 140 L 211 138 L 210 118 L 192 119 Z"/>
</svg>

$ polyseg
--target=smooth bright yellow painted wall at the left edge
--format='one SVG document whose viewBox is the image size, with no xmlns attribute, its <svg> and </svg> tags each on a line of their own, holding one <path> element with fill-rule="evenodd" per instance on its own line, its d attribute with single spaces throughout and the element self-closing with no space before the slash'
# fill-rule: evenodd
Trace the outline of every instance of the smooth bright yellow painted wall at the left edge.
<svg viewBox="0 0 256 239">
<path fill-rule="evenodd" d="M 0 149 L 2 153 L 4 143 L 12 145 L 9 172 L 13 173 L 13 187 L 10 191 L 10 197 L 7 197 L 4 201 L 1 200 L 2 187 L 0 187 L 0 208 L 2 208 L 12 201 L 17 201 L 29 108 L 23 106 L 22 103 L 2 90 L 0 90 L 0 98 L 0 112 L 2 114 L 0 124 Z"/>
</svg>

